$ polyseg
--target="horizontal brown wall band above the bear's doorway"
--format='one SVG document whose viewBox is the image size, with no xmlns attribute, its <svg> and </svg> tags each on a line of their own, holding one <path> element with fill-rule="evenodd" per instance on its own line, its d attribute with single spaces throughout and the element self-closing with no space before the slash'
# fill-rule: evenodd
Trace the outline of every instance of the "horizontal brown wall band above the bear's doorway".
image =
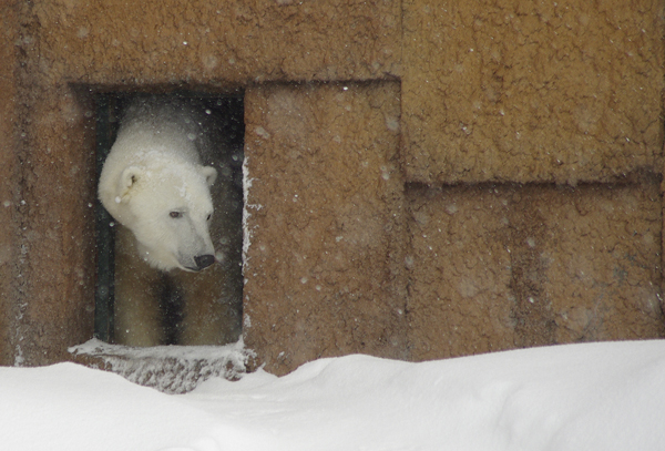
<svg viewBox="0 0 665 451">
<path fill-rule="evenodd" d="M 399 1 L 37 1 L 48 71 L 103 85 L 367 80 L 400 58 Z"/>
</svg>

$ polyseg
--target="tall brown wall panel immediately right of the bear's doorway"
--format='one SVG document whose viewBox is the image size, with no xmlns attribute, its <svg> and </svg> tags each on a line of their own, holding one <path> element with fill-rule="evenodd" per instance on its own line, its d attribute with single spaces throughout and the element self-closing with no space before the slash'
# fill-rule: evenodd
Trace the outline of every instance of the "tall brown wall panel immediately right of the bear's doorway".
<svg viewBox="0 0 665 451">
<path fill-rule="evenodd" d="M 277 373 L 407 357 L 399 85 L 258 88 L 245 102 L 245 342 Z"/>
</svg>

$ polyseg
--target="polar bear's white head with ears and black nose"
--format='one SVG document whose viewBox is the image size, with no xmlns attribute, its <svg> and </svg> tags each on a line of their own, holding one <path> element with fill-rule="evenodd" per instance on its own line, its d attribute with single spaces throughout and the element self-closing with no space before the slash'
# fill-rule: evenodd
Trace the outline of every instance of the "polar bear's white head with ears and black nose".
<svg viewBox="0 0 665 451">
<path fill-rule="evenodd" d="M 152 267 L 198 271 L 211 266 L 209 186 L 216 170 L 158 156 L 147 161 L 124 168 L 114 184 L 100 185 L 104 206 L 134 233 L 141 257 Z"/>
</svg>

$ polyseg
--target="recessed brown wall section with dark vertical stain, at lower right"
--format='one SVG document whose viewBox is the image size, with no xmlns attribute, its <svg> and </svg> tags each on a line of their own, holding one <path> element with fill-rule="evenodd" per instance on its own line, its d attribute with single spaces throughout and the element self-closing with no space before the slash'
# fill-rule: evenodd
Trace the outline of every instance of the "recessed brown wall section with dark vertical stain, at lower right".
<svg viewBox="0 0 665 451">
<path fill-rule="evenodd" d="M 411 358 L 665 334 L 657 181 L 408 197 Z"/>
</svg>

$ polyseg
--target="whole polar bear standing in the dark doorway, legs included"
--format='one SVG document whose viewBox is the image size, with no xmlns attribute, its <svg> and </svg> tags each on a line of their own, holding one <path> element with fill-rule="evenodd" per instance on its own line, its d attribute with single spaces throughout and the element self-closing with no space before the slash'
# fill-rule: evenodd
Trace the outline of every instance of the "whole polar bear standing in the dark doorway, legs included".
<svg viewBox="0 0 665 451">
<path fill-rule="evenodd" d="M 222 345 L 239 336 L 237 154 L 209 113 L 200 102 L 149 98 L 121 121 L 99 182 L 120 224 L 115 342 Z"/>
</svg>

